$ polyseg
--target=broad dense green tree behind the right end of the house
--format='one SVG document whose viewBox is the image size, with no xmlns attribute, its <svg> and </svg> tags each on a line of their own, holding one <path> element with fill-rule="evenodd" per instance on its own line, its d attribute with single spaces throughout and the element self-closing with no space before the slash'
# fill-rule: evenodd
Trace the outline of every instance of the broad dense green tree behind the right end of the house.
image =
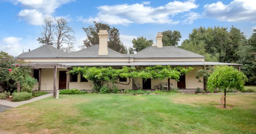
<svg viewBox="0 0 256 134">
<path fill-rule="evenodd" d="M 236 63 L 239 59 L 239 46 L 246 43 L 244 33 L 232 26 L 193 29 L 189 39 L 184 40 L 181 48 L 204 55 L 206 61 Z"/>
</svg>

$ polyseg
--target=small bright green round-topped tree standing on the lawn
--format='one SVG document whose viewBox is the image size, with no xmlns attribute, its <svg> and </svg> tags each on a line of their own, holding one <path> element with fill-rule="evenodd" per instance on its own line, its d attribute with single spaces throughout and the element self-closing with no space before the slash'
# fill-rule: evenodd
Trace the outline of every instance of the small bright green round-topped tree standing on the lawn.
<svg viewBox="0 0 256 134">
<path fill-rule="evenodd" d="M 214 66 L 213 73 L 207 81 L 207 88 L 213 91 L 216 88 L 224 90 L 224 108 L 226 108 L 226 89 L 244 90 L 247 77 L 232 66 Z"/>
</svg>

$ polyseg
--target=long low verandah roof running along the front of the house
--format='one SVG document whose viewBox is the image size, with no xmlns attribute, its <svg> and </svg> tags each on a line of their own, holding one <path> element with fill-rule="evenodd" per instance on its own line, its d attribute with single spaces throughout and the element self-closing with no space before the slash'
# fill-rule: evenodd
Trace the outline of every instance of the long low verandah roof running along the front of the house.
<svg viewBox="0 0 256 134">
<path fill-rule="evenodd" d="M 170 61 L 170 62 L 33 62 L 33 64 L 61 64 L 63 66 L 156 66 L 156 65 L 170 65 L 170 66 L 214 66 L 214 65 L 228 65 L 228 66 L 242 66 L 242 64 L 234 63 L 215 63 L 204 61 Z"/>
</svg>

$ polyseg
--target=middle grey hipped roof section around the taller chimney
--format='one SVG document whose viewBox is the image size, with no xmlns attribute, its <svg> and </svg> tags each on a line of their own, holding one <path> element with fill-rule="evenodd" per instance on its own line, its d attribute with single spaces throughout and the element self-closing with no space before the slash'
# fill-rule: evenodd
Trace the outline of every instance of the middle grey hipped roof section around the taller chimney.
<svg viewBox="0 0 256 134">
<path fill-rule="evenodd" d="M 125 55 L 108 48 L 108 55 L 99 55 L 99 45 L 94 45 L 88 48 L 81 49 L 79 51 L 75 51 L 71 54 L 67 54 L 63 57 L 69 58 L 96 58 L 96 57 L 118 57 L 123 58 Z"/>
</svg>

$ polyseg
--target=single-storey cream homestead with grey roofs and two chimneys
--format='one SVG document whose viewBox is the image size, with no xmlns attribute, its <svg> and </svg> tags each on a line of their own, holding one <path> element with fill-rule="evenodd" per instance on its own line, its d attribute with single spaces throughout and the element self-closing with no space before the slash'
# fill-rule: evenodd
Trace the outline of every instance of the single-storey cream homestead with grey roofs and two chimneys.
<svg viewBox="0 0 256 134">
<path fill-rule="evenodd" d="M 162 33 L 157 33 L 156 44 L 149 46 L 137 54 L 121 54 L 108 48 L 108 32 L 99 31 L 99 45 L 94 45 L 79 51 L 67 53 L 50 45 L 43 45 L 29 52 L 24 52 L 17 56 L 31 66 L 32 76 L 38 79 L 38 84 L 34 90 L 54 90 L 78 88 L 80 90 L 93 89 L 93 83 L 86 80 L 81 74 L 69 74 L 70 69 L 78 66 L 103 66 L 122 68 L 130 66 L 142 68 L 146 66 L 182 66 L 184 68 L 194 68 L 186 75 L 180 76 L 180 80 L 170 80 L 172 88 L 195 89 L 203 88 L 202 83 L 198 83 L 195 72 L 204 66 L 228 65 L 237 66 L 241 64 L 215 63 L 204 61 L 205 57 L 191 51 L 187 51 L 175 46 L 163 46 Z M 128 78 L 119 79 L 119 83 L 128 84 Z M 142 89 L 163 88 L 165 80 L 143 80 L 142 78 L 131 79 L 128 85 L 116 84 L 119 89 L 134 89 L 140 86 Z"/>
</svg>

